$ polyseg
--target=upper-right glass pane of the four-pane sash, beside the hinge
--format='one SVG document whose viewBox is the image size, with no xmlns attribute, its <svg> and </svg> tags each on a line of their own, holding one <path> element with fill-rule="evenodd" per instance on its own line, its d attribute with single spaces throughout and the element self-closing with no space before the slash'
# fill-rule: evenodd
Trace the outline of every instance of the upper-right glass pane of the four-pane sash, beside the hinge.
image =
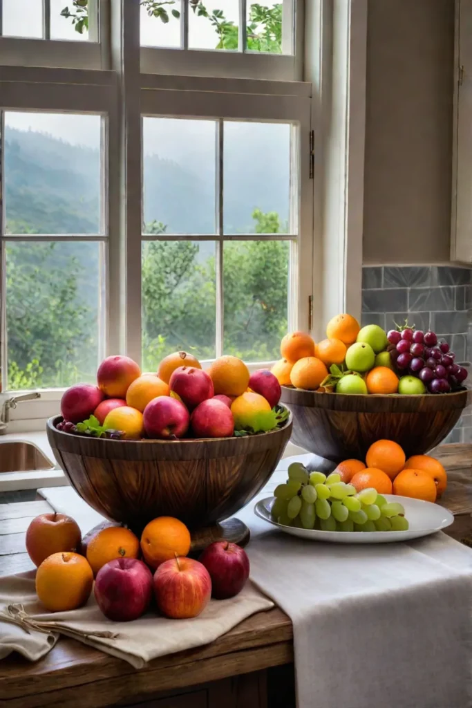
<svg viewBox="0 0 472 708">
<path fill-rule="evenodd" d="M 291 132 L 287 123 L 224 122 L 225 234 L 291 230 Z"/>
</svg>

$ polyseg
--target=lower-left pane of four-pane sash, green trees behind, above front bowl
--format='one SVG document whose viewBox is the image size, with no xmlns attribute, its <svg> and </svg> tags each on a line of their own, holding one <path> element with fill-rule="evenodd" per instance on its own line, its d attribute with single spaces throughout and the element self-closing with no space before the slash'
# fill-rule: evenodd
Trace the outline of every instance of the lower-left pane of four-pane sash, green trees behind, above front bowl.
<svg viewBox="0 0 472 708">
<path fill-rule="evenodd" d="M 185 350 L 215 355 L 215 244 L 145 241 L 142 244 L 143 368 Z"/>
</svg>

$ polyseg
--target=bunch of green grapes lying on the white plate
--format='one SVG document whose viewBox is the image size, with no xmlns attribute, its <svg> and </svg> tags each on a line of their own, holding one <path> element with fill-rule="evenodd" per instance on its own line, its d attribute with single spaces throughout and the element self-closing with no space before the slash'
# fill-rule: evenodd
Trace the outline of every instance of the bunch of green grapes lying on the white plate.
<svg viewBox="0 0 472 708">
<path fill-rule="evenodd" d="M 376 489 L 345 484 L 336 472 L 308 472 L 292 462 L 289 479 L 275 488 L 270 513 L 284 526 L 321 531 L 408 531 L 405 509 Z"/>
</svg>

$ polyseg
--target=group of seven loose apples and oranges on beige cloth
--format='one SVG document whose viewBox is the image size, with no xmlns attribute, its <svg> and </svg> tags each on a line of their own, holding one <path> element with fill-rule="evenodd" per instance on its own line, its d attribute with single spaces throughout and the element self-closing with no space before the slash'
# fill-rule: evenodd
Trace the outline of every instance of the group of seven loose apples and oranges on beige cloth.
<svg viewBox="0 0 472 708">
<path fill-rule="evenodd" d="M 168 516 L 151 521 L 141 539 L 111 523 L 82 539 L 74 519 L 42 514 L 28 527 L 26 550 L 38 567 L 36 593 L 47 610 L 76 610 L 93 589 L 103 615 L 115 622 L 141 617 L 153 596 L 164 617 L 197 617 L 210 598 L 238 595 L 249 577 L 248 556 L 234 543 L 215 542 L 198 561 L 188 558 L 188 528 Z"/>
</svg>

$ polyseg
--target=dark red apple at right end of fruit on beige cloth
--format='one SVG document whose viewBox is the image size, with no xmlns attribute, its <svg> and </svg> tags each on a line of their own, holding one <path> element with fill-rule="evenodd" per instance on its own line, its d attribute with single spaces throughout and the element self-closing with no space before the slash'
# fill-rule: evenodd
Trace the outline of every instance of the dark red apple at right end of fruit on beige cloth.
<svg viewBox="0 0 472 708">
<path fill-rule="evenodd" d="M 229 541 L 210 544 L 200 556 L 212 578 L 212 597 L 217 600 L 234 598 L 241 593 L 249 577 L 249 559 L 241 546 Z"/>
</svg>

